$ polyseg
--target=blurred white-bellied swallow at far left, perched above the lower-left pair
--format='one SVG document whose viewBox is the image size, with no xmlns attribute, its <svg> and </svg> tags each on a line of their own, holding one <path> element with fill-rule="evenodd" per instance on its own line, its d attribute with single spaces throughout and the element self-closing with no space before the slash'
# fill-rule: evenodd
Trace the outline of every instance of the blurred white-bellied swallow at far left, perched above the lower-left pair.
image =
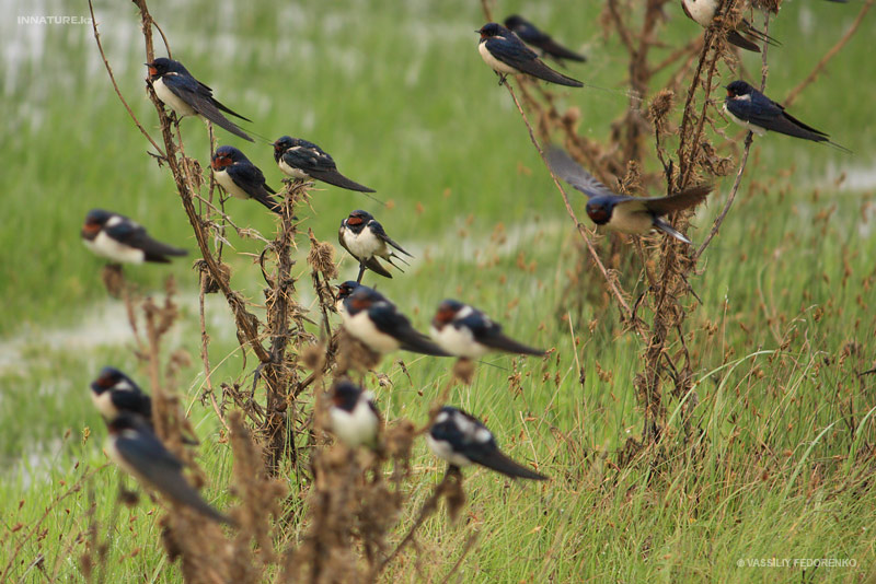
<svg viewBox="0 0 876 584">
<path fill-rule="evenodd" d="M 94 254 L 118 264 L 168 264 L 170 259 L 166 256 L 184 256 L 188 253 L 157 242 L 140 224 L 103 209 L 89 211 L 81 235 L 82 243 Z"/>
</svg>

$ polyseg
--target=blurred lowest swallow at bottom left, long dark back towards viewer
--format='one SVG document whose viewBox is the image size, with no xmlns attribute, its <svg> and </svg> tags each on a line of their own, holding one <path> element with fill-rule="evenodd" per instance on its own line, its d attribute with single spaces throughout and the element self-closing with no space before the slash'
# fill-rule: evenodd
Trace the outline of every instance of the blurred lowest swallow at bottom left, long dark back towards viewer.
<svg viewBox="0 0 876 584">
<path fill-rule="evenodd" d="M 122 413 L 107 422 L 106 454 L 123 470 L 176 504 L 185 505 L 220 523 L 234 522 L 216 511 L 183 477 L 183 463 L 161 443 L 142 418 Z"/>
</svg>

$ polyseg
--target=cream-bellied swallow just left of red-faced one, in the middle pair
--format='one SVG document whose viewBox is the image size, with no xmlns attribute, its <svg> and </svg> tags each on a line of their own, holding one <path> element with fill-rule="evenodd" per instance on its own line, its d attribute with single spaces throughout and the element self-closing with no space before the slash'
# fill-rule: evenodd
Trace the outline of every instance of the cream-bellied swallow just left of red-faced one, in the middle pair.
<svg viewBox="0 0 876 584">
<path fill-rule="evenodd" d="M 407 319 L 383 294 L 359 285 L 344 300 L 341 313 L 344 328 L 376 353 L 396 349 L 437 357 L 450 357 L 429 338 L 411 326 Z"/>
</svg>

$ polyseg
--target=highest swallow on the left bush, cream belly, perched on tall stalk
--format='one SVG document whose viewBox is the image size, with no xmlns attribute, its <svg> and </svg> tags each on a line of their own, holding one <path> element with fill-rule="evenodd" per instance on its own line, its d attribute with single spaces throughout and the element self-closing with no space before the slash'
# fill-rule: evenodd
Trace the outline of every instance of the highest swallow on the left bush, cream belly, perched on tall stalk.
<svg viewBox="0 0 876 584">
<path fill-rule="evenodd" d="M 149 80 L 152 82 L 155 95 L 177 116 L 183 118 L 197 115 L 244 140 L 254 141 L 237 124 L 224 117 L 222 112 L 246 121 L 252 120 L 216 101 L 212 90 L 192 77 L 183 63 L 160 57 L 146 66 L 149 68 Z"/>
</svg>

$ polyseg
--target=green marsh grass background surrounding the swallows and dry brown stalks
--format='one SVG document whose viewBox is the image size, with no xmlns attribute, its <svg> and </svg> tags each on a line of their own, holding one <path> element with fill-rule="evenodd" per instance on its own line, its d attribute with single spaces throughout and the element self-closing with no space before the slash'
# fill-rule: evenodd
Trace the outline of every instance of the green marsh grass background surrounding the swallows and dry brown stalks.
<svg viewBox="0 0 876 584">
<path fill-rule="evenodd" d="M 60 3 L 51 8 L 65 11 Z M 827 178 L 874 164 L 876 137 L 866 131 L 869 104 L 861 98 L 876 89 L 864 65 L 872 17 L 792 110 L 855 155 L 781 136 L 757 139 L 736 205 L 704 256 L 704 271 L 691 280 L 702 305 L 688 322 L 699 399 L 690 421 L 704 433 L 689 448 L 676 446 L 680 424 L 673 421 L 654 465 L 619 469 L 618 453 L 642 430 L 633 386 L 642 347 L 602 302 L 600 279 L 586 272 L 570 280 L 578 278 L 570 276 L 576 235 L 507 92 L 476 55 L 472 31 L 483 23 L 480 3 L 151 8 L 174 55 L 219 100 L 256 120 L 254 131 L 320 143 L 342 172 L 393 202 L 382 209 L 327 187 L 315 192 L 307 225 L 319 238 L 334 241 L 350 210 L 377 214 L 417 262 L 404 276 L 368 282 L 379 283 L 416 326 L 426 328 L 433 307 L 456 296 L 487 311 L 512 336 L 556 349 L 544 362 L 491 358 L 495 367 L 481 365 L 472 387 L 453 390 L 452 404 L 486 418 L 512 456 L 537 460 L 553 480 L 517 484 L 485 470 L 466 471 L 463 519 L 453 525 L 438 514 L 419 537 L 424 557 L 431 557 L 424 562 L 426 576 L 443 577 L 472 529 L 481 537 L 461 568 L 463 581 L 471 582 L 802 580 L 799 568 L 737 567 L 740 559 L 759 558 L 856 560 L 854 569 L 818 569 L 819 580 L 867 581 L 876 574 L 876 498 L 867 482 L 876 404 L 873 378 L 856 375 L 876 354 L 874 197 L 872 187 L 844 190 Z M 857 8 L 788 2 L 771 26 L 784 46 L 770 49 L 768 93 L 781 98 L 796 85 Z M 152 129 L 134 8 L 102 2 L 96 9 L 122 91 Z M 616 39 L 602 43 L 600 10 L 598 3 L 509 2 L 497 13 L 520 11 L 560 39 L 586 42 L 590 62 L 570 73 L 619 87 L 625 56 Z M 667 13 L 669 43 L 699 34 L 675 2 Z M 806 28 L 803 13 L 812 14 L 817 27 Z M 14 19 L 2 26 L 15 46 L 27 46 L 24 39 L 34 34 L 15 27 Z M 14 168 L 5 175 L 8 226 L 0 232 L 0 457 L 7 469 L 0 474 L 0 567 L 23 533 L 11 535 L 13 526 L 32 524 L 54 498 L 93 471 L 85 489 L 48 511 L 47 536 L 19 552 L 13 581 L 36 577 L 36 568 L 26 569 L 38 553 L 49 574 L 81 579 L 82 549 L 73 540 L 88 528 L 84 512 L 93 500 L 102 525 L 118 513 L 107 581 L 178 582 L 177 567 L 157 544 L 160 513 L 149 512 L 158 505 L 143 495 L 132 510 L 113 509 L 119 474 L 103 466 L 105 432 L 87 385 L 107 363 L 138 379 L 146 374 L 130 351 L 124 312 L 106 299 L 101 262 L 80 244 L 78 230 L 90 208 L 104 207 L 136 218 L 161 240 L 192 252 L 196 246 L 169 174 L 145 155 L 147 142 L 112 93 L 90 30 L 38 33 L 45 35 L 43 52 L 31 50 L 38 56 L 16 65 L 4 61 L 0 71 L 9 79 L 14 70 L 19 80 L 5 87 L 10 131 L 0 147 L 7 167 Z M 752 75 L 759 65 L 757 56 L 745 57 Z M 584 131 L 600 141 L 626 106 L 621 91 L 565 95 L 565 103 L 580 108 Z M 203 125 L 186 119 L 182 131 L 186 151 L 206 165 Z M 279 185 L 268 145 L 242 144 L 221 130 L 219 139 L 243 148 Z M 719 212 L 730 182 L 722 183 L 694 221 L 695 242 Z M 232 200 L 228 208 L 239 224 L 273 234 L 261 206 Z M 505 244 L 491 237 L 502 230 Z M 260 303 L 264 282 L 243 255 L 256 252 L 257 242 L 233 233 L 229 240 L 239 253 L 226 256 L 233 285 Z M 304 238 L 299 244 L 307 249 Z M 520 257 L 533 264 L 531 271 L 519 267 Z M 298 288 L 308 290 L 300 259 Z M 637 270 L 638 261 L 632 266 Z M 342 268 L 343 277 L 355 275 L 349 258 Z M 212 414 L 198 400 L 196 273 L 188 260 L 126 273 L 147 291 L 160 290 L 169 273 L 180 283 L 183 320 L 169 349 L 192 357 L 180 392 L 204 443 L 206 495 L 220 506 L 233 504 L 222 488 L 231 457 L 214 440 Z M 635 277 L 624 275 L 630 282 Z M 639 281 L 634 293 L 643 291 Z M 243 366 L 224 302 L 210 299 L 207 312 L 211 360 L 221 362 L 217 378 L 245 383 L 254 360 Z M 381 371 L 391 388 L 369 382 L 389 419 L 419 423 L 447 379 L 447 363 L 400 357 L 411 381 L 385 360 Z M 517 385 L 509 381 L 512 369 L 521 374 Z M 669 400 L 667 407 L 677 421 L 679 404 Z M 83 441 L 85 428 L 91 434 Z M 414 465 L 418 480 L 411 486 L 408 514 L 441 471 L 422 442 Z M 390 575 L 415 581 L 413 561 L 393 567 Z"/>
</svg>

